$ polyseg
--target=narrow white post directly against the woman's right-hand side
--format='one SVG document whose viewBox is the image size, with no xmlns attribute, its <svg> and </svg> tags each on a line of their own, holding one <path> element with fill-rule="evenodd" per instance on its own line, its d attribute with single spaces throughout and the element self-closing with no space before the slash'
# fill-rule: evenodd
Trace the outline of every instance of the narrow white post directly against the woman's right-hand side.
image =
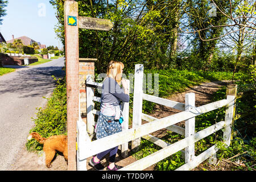
<svg viewBox="0 0 256 182">
<path fill-rule="evenodd" d="M 126 80 L 128 85 L 128 94 L 130 93 L 130 80 Z M 129 129 L 129 102 L 123 102 L 122 104 L 123 112 L 123 122 L 122 122 L 122 131 Z M 121 155 L 123 158 L 128 156 L 128 142 L 123 143 L 121 146 Z"/>
</svg>

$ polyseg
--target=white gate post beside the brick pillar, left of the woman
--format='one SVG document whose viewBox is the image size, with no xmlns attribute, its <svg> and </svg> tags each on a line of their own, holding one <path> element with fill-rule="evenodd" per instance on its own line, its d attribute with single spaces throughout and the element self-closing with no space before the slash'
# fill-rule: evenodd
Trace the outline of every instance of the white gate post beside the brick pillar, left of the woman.
<svg viewBox="0 0 256 182">
<path fill-rule="evenodd" d="M 86 76 L 86 84 L 90 84 L 92 82 L 92 75 Z M 87 107 L 87 118 L 86 118 L 86 125 L 87 125 L 87 131 L 90 135 L 94 132 L 94 115 L 92 110 L 94 109 L 94 90 L 93 88 L 86 86 L 86 107 Z"/>
</svg>

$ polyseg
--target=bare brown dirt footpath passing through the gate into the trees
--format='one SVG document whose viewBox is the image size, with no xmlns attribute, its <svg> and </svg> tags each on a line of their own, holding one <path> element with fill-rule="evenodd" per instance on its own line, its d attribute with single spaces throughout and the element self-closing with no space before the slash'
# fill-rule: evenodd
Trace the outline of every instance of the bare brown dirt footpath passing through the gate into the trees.
<svg viewBox="0 0 256 182">
<path fill-rule="evenodd" d="M 189 92 L 194 92 L 196 94 L 196 106 L 201 106 L 208 104 L 210 102 L 211 96 L 214 92 L 216 92 L 220 86 L 226 85 L 226 81 L 214 81 L 214 82 L 205 82 L 202 83 L 199 86 L 193 86 L 192 88 L 188 88 L 187 91 L 174 94 L 167 99 L 177 101 L 177 102 L 185 102 L 185 94 Z M 151 116 L 155 118 L 163 118 L 167 117 L 168 115 L 172 115 L 175 113 L 178 113 L 179 111 L 176 109 L 172 109 L 170 107 L 162 106 L 162 105 L 156 105 L 154 108 L 154 113 L 150 114 Z M 146 123 L 146 121 L 143 121 L 143 123 Z M 182 123 L 180 124 L 182 126 Z M 163 137 L 163 135 L 166 133 L 166 130 L 159 130 L 151 135 L 154 135 L 155 137 Z M 116 164 L 119 166 L 127 166 L 130 163 L 133 163 L 136 161 L 133 156 L 130 155 L 125 159 L 123 159 L 120 155 L 120 151 L 118 150 L 117 158 L 116 158 Z M 108 156 L 102 161 L 102 164 L 104 166 L 108 165 Z M 19 152 L 19 156 L 17 157 L 14 164 L 11 165 L 9 170 L 14 171 L 27 171 L 27 170 L 34 170 L 34 171 L 61 171 L 61 170 L 67 170 L 67 163 L 64 160 L 64 157 L 61 155 L 57 155 L 56 159 L 52 162 L 52 168 L 47 168 L 43 162 L 42 158 L 38 156 L 35 152 L 28 152 L 26 150 L 26 147 L 23 147 L 22 150 Z M 92 167 L 90 167 L 87 164 L 88 171 L 93 170 Z M 148 167 L 145 169 L 146 171 L 152 171 L 154 170 L 154 166 Z"/>
</svg>

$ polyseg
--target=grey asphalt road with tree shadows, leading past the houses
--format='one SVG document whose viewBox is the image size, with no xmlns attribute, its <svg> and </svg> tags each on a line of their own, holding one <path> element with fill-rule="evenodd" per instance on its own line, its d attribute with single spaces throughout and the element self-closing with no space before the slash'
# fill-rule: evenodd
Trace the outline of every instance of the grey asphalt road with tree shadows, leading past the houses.
<svg viewBox="0 0 256 182">
<path fill-rule="evenodd" d="M 0 170 L 8 170 L 35 126 L 36 107 L 43 107 L 55 88 L 52 78 L 63 77 L 64 58 L 34 67 L 20 67 L 0 76 Z"/>
</svg>

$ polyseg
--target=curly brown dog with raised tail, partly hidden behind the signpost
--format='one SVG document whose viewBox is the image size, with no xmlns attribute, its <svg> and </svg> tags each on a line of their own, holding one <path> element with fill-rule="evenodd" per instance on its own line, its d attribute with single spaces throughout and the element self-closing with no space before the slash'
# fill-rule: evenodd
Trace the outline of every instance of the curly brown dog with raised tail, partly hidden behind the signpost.
<svg viewBox="0 0 256 182">
<path fill-rule="evenodd" d="M 36 139 L 40 144 L 44 144 L 43 151 L 46 154 L 46 166 L 52 167 L 51 162 L 55 156 L 56 150 L 62 152 L 65 160 L 68 160 L 68 137 L 66 135 L 54 135 L 48 138 L 43 138 L 36 132 L 28 135 L 28 140 Z"/>
</svg>

